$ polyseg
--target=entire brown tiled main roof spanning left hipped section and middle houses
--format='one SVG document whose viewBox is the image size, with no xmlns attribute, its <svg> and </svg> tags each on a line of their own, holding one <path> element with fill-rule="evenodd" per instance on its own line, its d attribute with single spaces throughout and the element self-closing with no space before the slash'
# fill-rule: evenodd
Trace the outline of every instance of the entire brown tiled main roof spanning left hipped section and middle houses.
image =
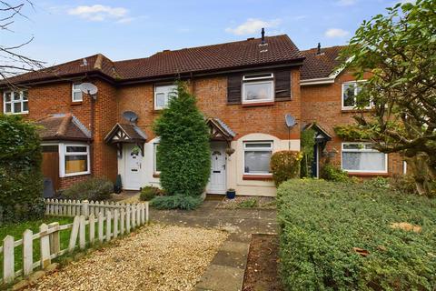
<svg viewBox="0 0 436 291">
<path fill-rule="evenodd" d="M 42 71 L 10 78 L 15 84 L 47 78 L 66 78 L 89 72 L 101 72 L 114 80 L 154 78 L 183 73 L 219 71 L 253 65 L 272 65 L 302 60 L 303 55 L 288 35 L 267 36 L 220 45 L 206 45 L 163 51 L 149 57 L 113 62 L 104 55 L 91 55 Z M 85 61 L 84 61 L 85 60 Z"/>
</svg>

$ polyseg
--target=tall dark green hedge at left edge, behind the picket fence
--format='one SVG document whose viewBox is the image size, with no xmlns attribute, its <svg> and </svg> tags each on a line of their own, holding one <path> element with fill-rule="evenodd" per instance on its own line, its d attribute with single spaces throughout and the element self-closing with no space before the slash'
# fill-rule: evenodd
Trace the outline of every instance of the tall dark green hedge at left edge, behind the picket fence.
<svg viewBox="0 0 436 291">
<path fill-rule="evenodd" d="M 0 115 L 0 222 L 44 214 L 37 127 L 18 115 Z"/>
</svg>

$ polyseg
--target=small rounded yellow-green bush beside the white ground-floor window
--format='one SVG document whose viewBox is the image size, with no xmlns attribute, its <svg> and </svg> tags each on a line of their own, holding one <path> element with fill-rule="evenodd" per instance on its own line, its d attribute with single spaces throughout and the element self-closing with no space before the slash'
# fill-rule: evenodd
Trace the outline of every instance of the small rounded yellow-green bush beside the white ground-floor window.
<svg viewBox="0 0 436 291">
<path fill-rule="evenodd" d="M 300 176 L 301 159 L 302 154 L 295 151 L 279 151 L 272 155 L 271 171 L 275 186 Z"/>
</svg>

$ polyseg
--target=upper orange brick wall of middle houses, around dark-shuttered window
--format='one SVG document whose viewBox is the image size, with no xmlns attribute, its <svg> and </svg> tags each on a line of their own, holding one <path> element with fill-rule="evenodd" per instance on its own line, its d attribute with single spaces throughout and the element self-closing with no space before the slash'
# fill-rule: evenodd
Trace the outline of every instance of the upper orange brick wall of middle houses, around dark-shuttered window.
<svg viewBox="0 0 436 291">
<path fill-rule="evenodd" d="M 284 115 L 289 113 L 301 121 L 300 72 L 292 70 L 292 101 L 275 102 L 273 105 L 243 107 L 243 105 L 227 105 L 227 77 L 214 76 L 190 80 L 189 88 L 197 96 L 197 102 L 204 115 L 218 117 L 229 125 L 237 134 L 235 139 L 251 133 L 275 135 L 288 139 L 288 129 L 284 123 Z M 154 85 L 134 85 L 119 89 L 119 116 L 132 110 L 139 115 L 138 125 L 154 138 L 152 129 L 154 119 L 159 115 L 154 112 Z M 291 138 L 300 138 L 300 131 L 295 126 Z"/>
</svg>

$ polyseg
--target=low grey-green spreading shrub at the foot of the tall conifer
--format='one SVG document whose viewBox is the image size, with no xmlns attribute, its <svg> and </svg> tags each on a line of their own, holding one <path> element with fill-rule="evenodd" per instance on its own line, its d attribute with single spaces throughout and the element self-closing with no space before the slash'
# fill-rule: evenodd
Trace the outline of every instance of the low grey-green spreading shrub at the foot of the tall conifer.
<svg viewBox="0 0 436 291">
<path fill-rule="evenodd" d="M 184 209 L 193 210 L 201 206 L 203 198 L 201 196 L 156 196 L 151 201 L 150 206 L 156 209 Z"/>
</svg>

